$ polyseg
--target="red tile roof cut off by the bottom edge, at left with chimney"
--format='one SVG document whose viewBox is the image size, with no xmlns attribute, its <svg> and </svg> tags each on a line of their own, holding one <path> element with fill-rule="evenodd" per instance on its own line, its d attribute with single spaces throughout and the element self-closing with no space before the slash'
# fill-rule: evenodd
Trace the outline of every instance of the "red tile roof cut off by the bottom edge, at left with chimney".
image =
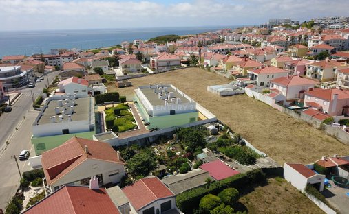
<svg viewBox="0 0 349 214">
<path fill-rule="evenodd" d="M 119 214 L 105 188 L 64 186 L 24 211 L 26 214 Z"/>
</svg>

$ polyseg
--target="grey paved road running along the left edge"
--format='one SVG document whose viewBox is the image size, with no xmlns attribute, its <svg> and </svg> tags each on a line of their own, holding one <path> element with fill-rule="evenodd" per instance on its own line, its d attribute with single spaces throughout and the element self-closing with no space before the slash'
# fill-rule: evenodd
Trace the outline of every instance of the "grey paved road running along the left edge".
<svg viewBox="0 0 349 214">
<path fill-rule="evenodd" d="M 52 82 L 57 74 L 58 71 L 48 74 L 49 81 Z M 32 136 L 32 123 L 39 112 L 32 108 L 30 91 L 36 98 L 41 94 L 46 84 L 47 80 L 45 78 L 43 82 L 37 83 L 35 88 L 21 90 L 21 96 L 12 105 L 12 112 L 0 116 L 0 208 L 2 209 L 5 209 L 6 202 L 10 200 L 19 187 L 19 172 L 11 156 L 14 154 L 18 156 L 19 152 L 25 149 L 31 150 L 31 153 L 34 154 L 30 138 Z M 3 150 L 6 141 L 9 141 L 9 145 L 6 150 Z M 27 161 L 19 161 L 19 169 L 21 173 L 28 171 Z"/>
</svg>

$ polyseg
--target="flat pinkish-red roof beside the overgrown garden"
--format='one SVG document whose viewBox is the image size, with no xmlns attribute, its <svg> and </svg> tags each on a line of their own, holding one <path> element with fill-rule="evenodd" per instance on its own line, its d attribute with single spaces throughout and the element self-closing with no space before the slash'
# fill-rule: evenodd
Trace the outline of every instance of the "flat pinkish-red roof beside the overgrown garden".
<svg viewBox="0 0 349 214">
<path fill-rule="evenodd" d="M 215 160 L 210 163 L 205 163 L 201 165 L 200 168 L 209 171 L 209 174 L 213 178 L 215 178 L 215 180 L 222 180 L 224 178 L 228 178 L 230 176 L 235 176 L 236 174 L 239 174 L 238 171 L 231 169 L 230 167 L 222 163 L 221 160 Z"/>
</svg>

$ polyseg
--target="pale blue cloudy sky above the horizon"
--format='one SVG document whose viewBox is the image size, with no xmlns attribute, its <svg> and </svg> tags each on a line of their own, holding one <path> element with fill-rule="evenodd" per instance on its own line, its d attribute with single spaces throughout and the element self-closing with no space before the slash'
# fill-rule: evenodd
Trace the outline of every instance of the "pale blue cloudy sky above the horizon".
<svg viewBox="0 0 349 214">
<path fill-rule="evenodd" d="M 0 31 L 259 25 L 348 8 L 348 0 L 0 0 Z"/>
</svg>

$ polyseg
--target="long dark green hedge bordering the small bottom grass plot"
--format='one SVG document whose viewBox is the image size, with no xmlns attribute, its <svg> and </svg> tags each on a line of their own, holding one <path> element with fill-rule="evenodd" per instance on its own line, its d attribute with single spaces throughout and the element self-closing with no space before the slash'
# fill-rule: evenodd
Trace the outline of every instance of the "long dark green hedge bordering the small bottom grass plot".
<svg viewBox="0 0 349 214">
<path fill-rule="evenodd" d="M 218 193 L 228 187 L 238 189 L 239 187 L 252 185 L 265 180 L 266 176 L 262 172 L 262 170 L 255 169 L 244 174 L 237 174 L 224 180 L 212 182 L 209 189 L 205 187 L 198 187 L 189 191 L 185 191 L 184 193 L 180 193 L 176 197 L 176 204 L 182 212 L 187 213 L 189 211 L 193 211 L 193 209 L 198 206 L 201 198 L 204 197 L 204 195 L 207 195 L 209 193 L 218 195 Z"/>
</svg>

